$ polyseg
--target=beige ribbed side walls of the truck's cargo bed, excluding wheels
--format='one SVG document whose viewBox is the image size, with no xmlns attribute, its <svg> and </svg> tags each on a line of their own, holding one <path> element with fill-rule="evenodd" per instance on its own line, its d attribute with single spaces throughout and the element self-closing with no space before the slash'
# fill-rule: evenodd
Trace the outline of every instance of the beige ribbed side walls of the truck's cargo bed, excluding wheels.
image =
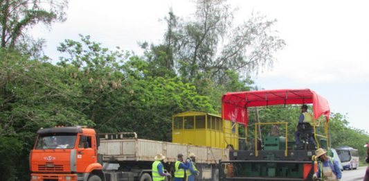
<svg viewBox="0 0 369 181">
<path fill-rule="evenodd" d="M 98 148 L 98 153 L 102 155 L 104 162 L 111 160 L 154 161 L 156 153 L 162 153 L 165 156 L 164 162 L 175 162 L 179 153 L 186 158 L 191 152 L 195 153 L 197 163 L 215 164 L 219 160 L 229 160 L 228 149 L 148 139 L 100 139 Z"/>
</svg>

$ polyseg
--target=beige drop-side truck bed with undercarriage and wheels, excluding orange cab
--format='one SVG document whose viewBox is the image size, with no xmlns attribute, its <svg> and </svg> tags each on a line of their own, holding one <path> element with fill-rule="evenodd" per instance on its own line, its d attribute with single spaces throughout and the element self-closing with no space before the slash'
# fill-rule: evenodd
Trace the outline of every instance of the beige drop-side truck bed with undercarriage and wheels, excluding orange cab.
<svg viewBox="0 0 369 181">
<path fill-rule="evenodd" d="M 134 168 L 128 171 L 134 180 L 139 180 L 145 173 L 151 174 L 151 165 L 154 162 L 153 155 L 156 153 L 165 155 L 164 167 L 170 173 L 174 173 L 174 162 L 177 161 L 179 153 L 183 154 L 184 157 L 189 153 L 195 153 L 196 166 L 200 173 L 198 180 L 217 180 L 219 160 L 229 160 L 228 149 L 137 139 L 135 133 L 133 133 L 135 137 L 125 138 L 123 136 L 125 134 L 127 133 L 105 134 L 104 138 L 100 138 L 98 153 L 102 162 L 106 164 L 119 164 L 122 168 Z M 115 138 L 111 139 L 111 137 Z M 121 169 L 121 171 L 127 173 L 125 169 Z"/>
</svg>

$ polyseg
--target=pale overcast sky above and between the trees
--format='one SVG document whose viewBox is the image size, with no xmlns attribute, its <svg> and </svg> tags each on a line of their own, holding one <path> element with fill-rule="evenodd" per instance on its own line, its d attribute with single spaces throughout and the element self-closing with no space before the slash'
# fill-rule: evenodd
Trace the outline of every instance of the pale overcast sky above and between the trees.
<svg viewBox="0 0 369 181">
<path fill-rule="evenodd" d="M 102 46 L 142 51 L 137 42 L 159 43 L 163 19 L 170 7 L 186 17 L 194 11 L 187 0 L 70 0 L 68 19 L 51 30 L 33 28 L 44 37 L 46 55 L 60 56 L 56 46 L 65 39 L 91 35 Z M 235 21 L 251 12 L 277 19 L 275 26 L 287 42 L 276 54 L 278 62 L 253 76 L 264 89 L 309 88 L 330 102 L 332 112 L 348 114 L 350 126 L 369 132 L 369 1 L 228 1 L 239 8 Z"/>
</svg>

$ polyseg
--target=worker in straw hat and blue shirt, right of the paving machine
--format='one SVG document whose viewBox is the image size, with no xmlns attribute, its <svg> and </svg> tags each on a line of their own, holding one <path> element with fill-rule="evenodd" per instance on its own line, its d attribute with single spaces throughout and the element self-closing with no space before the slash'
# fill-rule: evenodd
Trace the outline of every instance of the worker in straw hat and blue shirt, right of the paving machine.
<svg viewBox="0 0 369 181">
<path fill-rule="evenodd" d="M 328 157 L 326 153 L 323 148 L 318 148 L 315 151 L 316 160 L 318 160 L 318 171 L 314 173 L 313 180 L 320 178 L 323 181 L 337 181 L 342 177 L 339 162 L 332 157 Z"/>
</svg>

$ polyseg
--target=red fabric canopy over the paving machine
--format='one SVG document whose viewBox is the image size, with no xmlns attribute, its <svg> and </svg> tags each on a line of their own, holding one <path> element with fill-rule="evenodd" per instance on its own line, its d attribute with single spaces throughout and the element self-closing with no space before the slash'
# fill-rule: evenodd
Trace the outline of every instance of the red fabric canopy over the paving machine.
<svg viewBox="0 0 369 181">
<path fill-rule="evenodd" d="M 314 119 L 324 114 L 329 121 L 328 101 L 310 89 L 228 92 L 222 96 L 222 118 L 247 125 L 247 107 L 309 103 L 313 104 Z"/>
</svg>

